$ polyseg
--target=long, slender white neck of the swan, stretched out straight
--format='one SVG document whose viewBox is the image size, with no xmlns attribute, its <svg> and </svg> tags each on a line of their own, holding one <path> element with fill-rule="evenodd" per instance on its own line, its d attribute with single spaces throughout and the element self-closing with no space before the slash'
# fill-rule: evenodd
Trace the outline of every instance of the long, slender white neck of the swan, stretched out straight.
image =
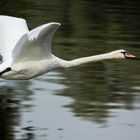
<svg viewBox="0 0 140 140">
<path fill-rule="evenodd" d="M 94 55 L 94 56 L 89 56 L 89 57 L 82 57 L 78 59 L 74 59 L 71 61 L 65 61 L 60 59 L 60 65 L 63 68 L 68 68 L 68 67 L 74 67 L 78 66 L 81 64 L 89 63 L 89 62 L 97 62 L 101 60 L 107 60 L 107 59 L 114 59 L 115 57 L 111 53 L 105 53 L 101 55 Z"/>
</svg>

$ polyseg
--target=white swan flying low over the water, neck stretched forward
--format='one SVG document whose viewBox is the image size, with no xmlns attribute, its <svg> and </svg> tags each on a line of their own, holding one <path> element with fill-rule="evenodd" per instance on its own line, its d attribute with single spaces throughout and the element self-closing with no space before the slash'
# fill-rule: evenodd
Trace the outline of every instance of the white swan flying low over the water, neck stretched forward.
<svg viewBox="0 0 140 140">
<path fill-rule="evenodd" d="M 51 53 L 53 35 L 60 23 L 51 22 L 31 31 L 22 18 L 0 16 L 0 77 L 31 79 L 55 68 L 68 68 L 105 59 L 133 58 L 125 50 L 66 61 Z"/>
</svg>

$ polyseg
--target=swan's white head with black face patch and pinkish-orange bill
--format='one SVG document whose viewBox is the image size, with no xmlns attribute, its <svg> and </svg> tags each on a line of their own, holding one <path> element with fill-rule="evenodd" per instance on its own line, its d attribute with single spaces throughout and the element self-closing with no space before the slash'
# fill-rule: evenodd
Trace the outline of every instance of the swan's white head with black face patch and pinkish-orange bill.
<svg viewBox="0 0 140 140">
<path fill-rule="evenodd" d="M 132 55 L 123 49 L 110 52 L 110 54 L 112 55 L 113 58 L 117 58 L 117 59 L 119 59 L 119 58 L 127 58 L 127 59 L 135 58 L 135 55 Z"/>
</svg>

